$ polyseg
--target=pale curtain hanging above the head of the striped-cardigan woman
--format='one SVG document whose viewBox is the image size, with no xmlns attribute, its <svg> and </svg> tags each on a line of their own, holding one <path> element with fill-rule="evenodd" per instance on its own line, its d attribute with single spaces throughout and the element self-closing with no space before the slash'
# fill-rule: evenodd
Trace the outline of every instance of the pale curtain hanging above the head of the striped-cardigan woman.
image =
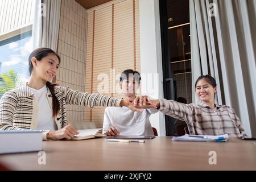
<svg viewBox="0 0 256 182">
<path fill-rule="evenodd" d="M 33 47 L 57 51 L 60 25 L 60 0 L 34 0 Z"/>
</svg>

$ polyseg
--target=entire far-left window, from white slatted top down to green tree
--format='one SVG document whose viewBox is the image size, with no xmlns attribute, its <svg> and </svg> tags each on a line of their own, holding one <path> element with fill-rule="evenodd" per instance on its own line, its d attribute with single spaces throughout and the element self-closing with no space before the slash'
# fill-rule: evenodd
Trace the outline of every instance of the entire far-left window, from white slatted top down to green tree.
<svg viewBox="0 0 256 182">
<path fill-rule="evenodd" d="M 24 84 L 29 77 L 32 51 L 33 0 L 1 0 L 0 7 L 0 98 Z"/>
</svg>

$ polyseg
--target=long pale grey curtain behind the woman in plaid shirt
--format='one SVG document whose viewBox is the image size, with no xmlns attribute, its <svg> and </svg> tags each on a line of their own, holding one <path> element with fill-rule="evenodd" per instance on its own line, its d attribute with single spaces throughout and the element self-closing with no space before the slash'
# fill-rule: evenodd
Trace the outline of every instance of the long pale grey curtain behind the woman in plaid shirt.
<svg viewBox="0 0 256 182">
<path fill-rule="evenodd" d="M 233 107 L 246 133 L 256 136 L 256 0 L 189 0 L 189 6 L 193 85 L 200 75 L 216 78 L 216 102 Z"/>
</svg>

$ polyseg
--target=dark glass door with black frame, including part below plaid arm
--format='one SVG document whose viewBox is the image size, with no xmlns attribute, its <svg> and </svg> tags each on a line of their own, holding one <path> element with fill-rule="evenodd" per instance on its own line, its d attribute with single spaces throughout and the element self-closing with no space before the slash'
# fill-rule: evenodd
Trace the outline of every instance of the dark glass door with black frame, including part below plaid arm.
<svg viewBox="0 0 256 182">
<path fill-rule="evenodd" d="M 192 102 L 189 0 L 159 0 L 164 98 Z M 184 133 L 185 123 L 166 115 L 166 135 Z"/>
</svg>

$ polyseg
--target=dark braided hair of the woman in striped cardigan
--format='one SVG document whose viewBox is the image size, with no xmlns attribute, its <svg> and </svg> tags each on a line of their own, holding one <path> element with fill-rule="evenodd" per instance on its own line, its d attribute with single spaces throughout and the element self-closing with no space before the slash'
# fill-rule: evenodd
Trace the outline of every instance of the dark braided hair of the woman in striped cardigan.
<svg viewBox="0 0 256 182">
<path fill-rule="evenodd" d="M 37 48 L 28 57 L 28 65 L 29 65 L 30 75 L 31 75 L 32 69 L 33 69 L 33 64 L 32 64 L 32 61 L 31 61 L 32 57 L 35 57 L 36 60 L 41 61 L 43 59 L 43 57 L 46 57 L 49 54 L 56 55 L 57 58 L 59 59 L 59 64 L 60 64 L 60 56 L 57 55 L 57 53 L 54 52 L 52 49 L 45 48 L 45 47 Z M 59 113 L 59 110 L 60 110 L 60 102 L 57 99 L 57 97 L 55 96 L 55 90 L 54 90 L 54 86 L 56 86 L 56 85 L 58 85 L 58 84 L 56 84 L 56 83 L 52 84 L 49 81 L 46 82 L 46 86 L 47 86 L 47 88 L 49 89 L 49 91 L 51 92 L 51 95 L 52 95 L 52 110 L 53 110 L 52 116 L 53 116 L 53 118 L 56 117 L 56 115 Z"/>
</svg>

